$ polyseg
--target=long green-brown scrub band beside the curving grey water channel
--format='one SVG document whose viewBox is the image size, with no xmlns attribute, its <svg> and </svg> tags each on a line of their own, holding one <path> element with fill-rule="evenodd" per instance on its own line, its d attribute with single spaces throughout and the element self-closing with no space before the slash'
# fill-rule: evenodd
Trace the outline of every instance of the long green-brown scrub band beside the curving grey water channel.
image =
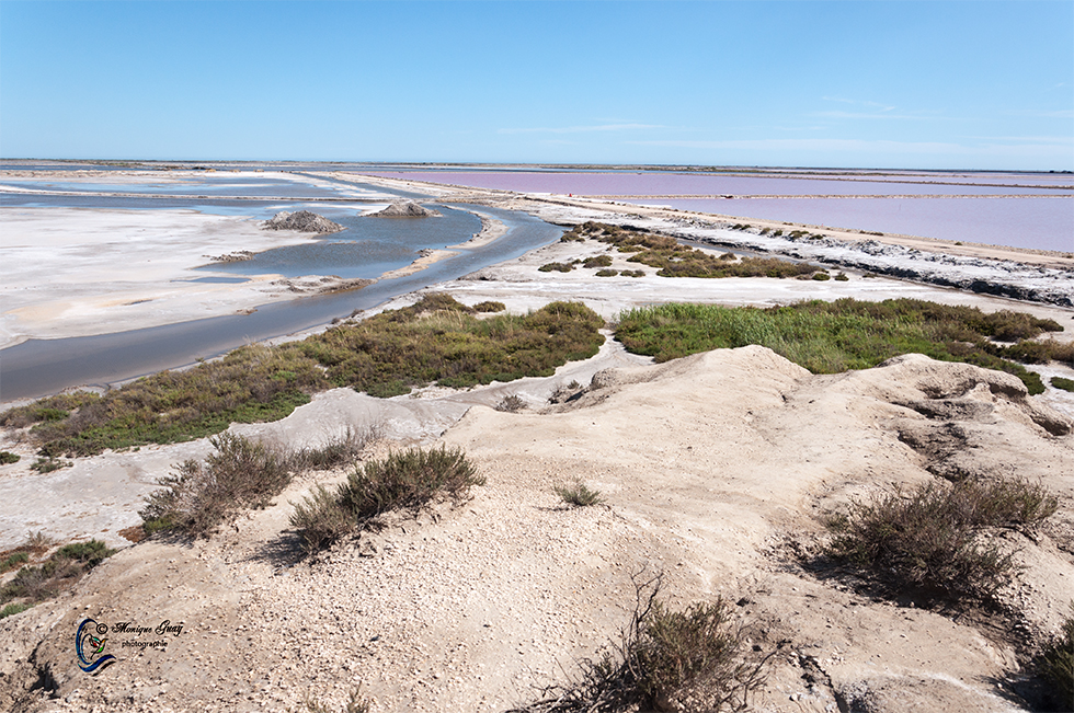
<svg viewBox="0 0 1074 713">
<path fill-rule="evenodd" d="M 232 423 L 275 421 L 310 394 L 352 387 L 375 396 L 437 382 L 470 387 L 548 376 L 596 354 L 603 320 L 573 302 L 525 315 L 475 317 L 447 295 L 427 295 L 277 347 L 248 346 L 185 371 L 162 371 L 104 396 L 73 394 L 13 409 L 0 425 L 36 424 L 31 437 L 47 458 L 106 448 L 202 438 Z"/>
</svg>

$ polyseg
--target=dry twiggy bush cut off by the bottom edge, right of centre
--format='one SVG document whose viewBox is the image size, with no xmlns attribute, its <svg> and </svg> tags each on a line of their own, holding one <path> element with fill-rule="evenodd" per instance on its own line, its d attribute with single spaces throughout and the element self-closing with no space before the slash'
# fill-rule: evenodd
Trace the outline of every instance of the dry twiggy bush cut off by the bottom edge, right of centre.
<svg viewBox="0 0 1074 713">
<path fill-rule="evenodd" d="M 636 586 L 620 641 L 599 660 L 583 660 L 575 680 L 547 687 L 541 700 L 509 713 L 746 710 L 767 658 L 750 659 L 731 606 L 718 598 L 674 611 L 658 599 L 659 578 Z"/>
</svg>

